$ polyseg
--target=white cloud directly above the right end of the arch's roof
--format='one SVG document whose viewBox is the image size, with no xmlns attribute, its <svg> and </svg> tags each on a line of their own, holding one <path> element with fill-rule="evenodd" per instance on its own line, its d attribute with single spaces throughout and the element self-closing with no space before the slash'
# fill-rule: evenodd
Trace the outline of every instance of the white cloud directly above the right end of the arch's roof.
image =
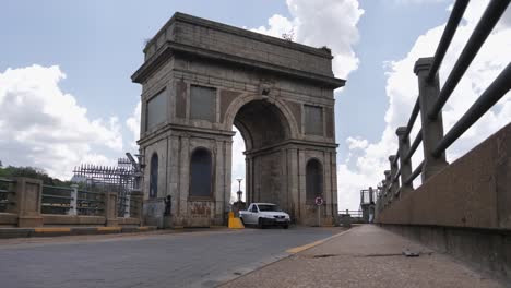
<svg viewBox="0 0 511 288">
<path fill-rule="evenodd" d="M 275 14 L 269 26 L 254 32 L 282 37 L 293 32 L 295 40 L 309 46 L 328 46 L 334 56 L 333 72 L 337 77 L 358 68 L 358 58 L 353 46 L 358 41 L 357 23 L 364 14 L 357 0 L 287 0 L 293 19 Z"/>
</svg>

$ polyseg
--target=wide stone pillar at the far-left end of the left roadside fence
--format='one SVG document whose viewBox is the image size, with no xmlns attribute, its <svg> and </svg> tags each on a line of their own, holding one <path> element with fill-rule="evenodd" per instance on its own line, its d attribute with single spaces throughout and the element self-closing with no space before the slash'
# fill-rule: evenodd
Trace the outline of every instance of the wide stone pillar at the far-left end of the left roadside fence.
<svg viewBox="0 0 511 288">
<path fill-rule="evenodd" d="M 19 177 L 16 180 L 17 226 L 43 226 L 40 204 L 43 196 L 43 181 Z"/>
</svg>

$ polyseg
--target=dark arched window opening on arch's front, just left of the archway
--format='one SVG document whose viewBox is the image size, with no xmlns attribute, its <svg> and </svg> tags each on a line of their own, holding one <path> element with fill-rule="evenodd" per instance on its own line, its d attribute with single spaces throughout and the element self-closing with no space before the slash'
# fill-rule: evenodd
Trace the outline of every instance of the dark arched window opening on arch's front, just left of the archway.
<svg viewBox="0 0 511 288">
<path fill-rule="evenodd" d="M 198 148 L 192 153 L 190 173 L 190 195 L 211 196 L 213 167 L 210 151 Z"/>
</svg>

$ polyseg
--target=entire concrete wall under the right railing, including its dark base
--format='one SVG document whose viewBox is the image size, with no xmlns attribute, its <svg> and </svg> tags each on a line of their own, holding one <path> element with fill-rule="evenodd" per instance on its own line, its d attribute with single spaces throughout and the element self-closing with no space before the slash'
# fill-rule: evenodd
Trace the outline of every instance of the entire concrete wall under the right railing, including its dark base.
<svg viewBox="0 0 511 288">
<path fill-rule="evenodd" d="M 376 221 L 511 281 L 511 124 L 394 199 Z"/>
</svg>

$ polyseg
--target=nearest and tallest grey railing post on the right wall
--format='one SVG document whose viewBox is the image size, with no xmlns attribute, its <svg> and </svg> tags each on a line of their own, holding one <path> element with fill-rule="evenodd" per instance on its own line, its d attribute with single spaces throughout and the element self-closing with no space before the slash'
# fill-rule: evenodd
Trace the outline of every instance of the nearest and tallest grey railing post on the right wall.
<svg viewBox="0 0 511 288">
<path fill-rule="evenodd" d="M 427 81 L 432 60 L 432 58 L 419 58 L 414 67 L 414 72 L 418 77 L 420 119 L 423 123 L 423 182 L 426 182 L 427 179 L 447 166 L 445 153 L 437 158 L 432 156 L 435 147 L 443 137 L 442 112 L 440 111 L 435 120 L 428 117 L 428 111 L 437 101 L 440 93 L 438 74 L 432 81 Z"/>
</svg>

